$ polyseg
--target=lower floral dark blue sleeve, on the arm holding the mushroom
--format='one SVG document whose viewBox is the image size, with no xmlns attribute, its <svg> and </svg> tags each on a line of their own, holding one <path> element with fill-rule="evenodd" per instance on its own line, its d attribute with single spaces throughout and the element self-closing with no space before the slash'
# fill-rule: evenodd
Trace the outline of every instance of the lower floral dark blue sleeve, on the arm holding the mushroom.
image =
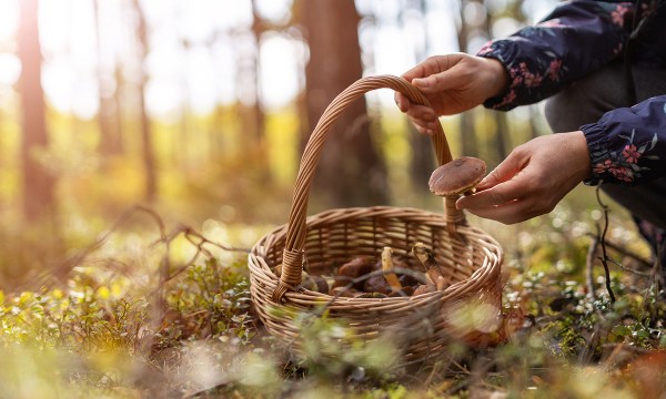
<svg viewBox="0 0 666 399">
<path fill-rule="evenodd" d="M 607 112 L 581 130 L 592 163 L 585 184 L 632 185 L 666 174 L 666 95 Z"/>
</svg>

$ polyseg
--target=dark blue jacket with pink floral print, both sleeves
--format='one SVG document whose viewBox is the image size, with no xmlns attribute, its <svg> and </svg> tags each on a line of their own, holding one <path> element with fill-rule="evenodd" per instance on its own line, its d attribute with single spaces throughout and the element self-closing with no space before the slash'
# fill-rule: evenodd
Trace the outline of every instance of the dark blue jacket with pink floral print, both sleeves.
<svg viewBox="0 0 666 399">
<path fill-rule="evenodd" d="M 511 78 L 507 91 L 484 105 L 511 110 L 538 102 L 622 60 L 627 48 L 632 63 L 666 69 L 666 0 L 565 2 L 538 24 L 480 50 L 504 63 Z M 666 176 L 666 93 L 609 111 L 581 130 L 592 161 L 587 184 Z"/>
</svg>

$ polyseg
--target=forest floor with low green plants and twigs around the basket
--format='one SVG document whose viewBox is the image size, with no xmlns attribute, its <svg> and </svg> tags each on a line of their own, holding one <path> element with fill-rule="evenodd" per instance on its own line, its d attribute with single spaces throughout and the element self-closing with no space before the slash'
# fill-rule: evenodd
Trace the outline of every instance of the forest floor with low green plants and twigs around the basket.
<svg viewBox="0 0 666 399">
<path fill-rule="evenodd" d="M 517 226 L 473 219 L 506 250 L 503 313 L 519 315 L 515 330 L 496 347 L 452 341 L 445 356 L 401 366 L 386 342 L 342 352 L 345 327 L 324 319 L 302 359 L 265 334 L 246 250 L 266 226 L 200 232 L 135 208 L 0 291 L 0 396 L 666 398 L 666 301 L 622 216 L 563 204 Z"/>
</svg>

